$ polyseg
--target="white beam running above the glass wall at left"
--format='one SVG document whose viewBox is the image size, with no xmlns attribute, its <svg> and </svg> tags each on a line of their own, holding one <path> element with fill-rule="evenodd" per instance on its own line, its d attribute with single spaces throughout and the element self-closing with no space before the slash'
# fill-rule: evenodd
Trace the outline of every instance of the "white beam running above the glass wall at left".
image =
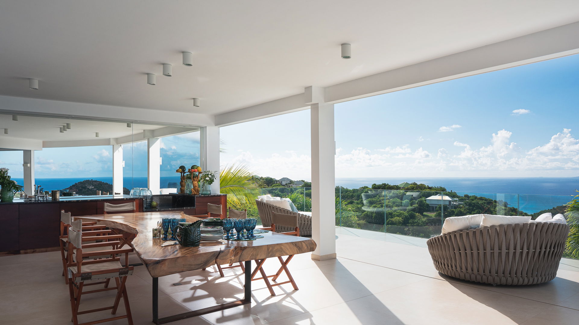
<svg viewBox="0 0 579 325">
<path fill-rule="evenodd" d="M 25 113 L 54 117 L 76 117 L 80 119 L 103 121 L 127 121 L 157 125 L 172 124 L 203 127 L 215 124 L 214 116 L 207 114 L 50 101 L 47 99 L 11 96 L 0 96 L 0 112 L 10 114 Z"/>
</svg>

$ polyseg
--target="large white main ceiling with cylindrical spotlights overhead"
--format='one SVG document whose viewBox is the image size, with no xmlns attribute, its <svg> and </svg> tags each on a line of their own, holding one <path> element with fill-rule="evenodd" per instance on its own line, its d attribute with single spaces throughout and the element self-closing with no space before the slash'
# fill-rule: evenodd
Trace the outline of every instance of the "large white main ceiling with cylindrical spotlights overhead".
<svg viewBox="0 0 579 325">
<path fill-rule="evenodd" d="M 0 95 L 214 115 L 578 20 L 577 0 L 2 1 Z"/>
</svg>

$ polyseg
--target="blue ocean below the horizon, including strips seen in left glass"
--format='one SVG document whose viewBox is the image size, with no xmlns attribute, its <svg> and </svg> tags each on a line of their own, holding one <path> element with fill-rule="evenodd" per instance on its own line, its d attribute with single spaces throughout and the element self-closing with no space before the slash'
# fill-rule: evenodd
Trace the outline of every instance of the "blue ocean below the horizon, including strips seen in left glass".
<svg viewBox="0 0 579 325">
<path fill-rule="evenodd" d="M 37 178 L 45 191 L 65 189 L 76 182 L 90 178 Z M 93 178 L 102 182 L 112 183 L 112 177 Z M 19 184 L 23 179 L 14 178 Z M 161 187 L 168 183 L 178 183 L 178 176 L 167 176 L 160 179 Z M 358 189 L 361 186 L 372 186 L 373 183 L 400 184 L 402 182 L 424 183 L 430 186 L 444 186 L 460 195 L 470 194 L 503 200 L 509 205 L 518 207 L 527 213 L 551 209 L 554 206 L 566 204 L 571 195 L 579 189 L 579 177 L 574 178 L 336 178 L 336 186 Z M 146 177 L 123 178 L 124 187 L 147 187 Z M 500 193 L 500 194 L 497 194 Z"/>
</svg>

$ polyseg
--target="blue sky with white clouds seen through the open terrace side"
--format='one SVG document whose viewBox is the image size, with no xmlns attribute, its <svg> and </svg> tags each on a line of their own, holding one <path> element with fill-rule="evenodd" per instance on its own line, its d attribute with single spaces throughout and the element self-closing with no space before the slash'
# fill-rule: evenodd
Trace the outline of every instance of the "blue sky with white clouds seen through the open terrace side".
<svg viewBox="0 0 579 325">
<path fill-rule="evenodd" d="M 336 177 L 579 176 L 578 89 L 579 55 L 336 104 Z M 222 161 L 310 179 L 309 123 L 223 127 Z"/>
</svg>

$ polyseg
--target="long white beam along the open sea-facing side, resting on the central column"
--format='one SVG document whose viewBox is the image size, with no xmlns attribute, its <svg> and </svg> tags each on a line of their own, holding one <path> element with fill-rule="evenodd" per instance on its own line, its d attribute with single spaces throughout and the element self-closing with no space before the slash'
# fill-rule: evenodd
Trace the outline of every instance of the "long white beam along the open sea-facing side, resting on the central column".
<svg viewBox="0 0 579 325">
<path fill-rule="evenodd" d="M 424 61 L 406 67 L 376 73 L 348 82 L 325 87 L 325 102 L 338 103 L 352 99 L 390 93 L 470 75 L 516 67 L 579 53 L 579 22 L 504 40 L 476 49 Z M 313 91 L 313 92 L 312 92 Z M 292 95 L 215 116 L 218 126 L 242 123 L 307 109 L 315 92 Z"/>
</svg>

